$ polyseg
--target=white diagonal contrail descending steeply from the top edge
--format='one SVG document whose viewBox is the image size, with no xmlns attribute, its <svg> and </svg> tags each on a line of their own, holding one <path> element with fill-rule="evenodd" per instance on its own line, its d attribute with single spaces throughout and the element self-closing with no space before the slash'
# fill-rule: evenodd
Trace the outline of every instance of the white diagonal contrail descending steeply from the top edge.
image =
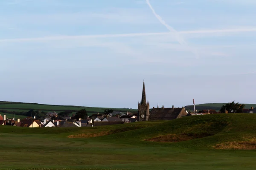
<svg viewBox="0 0 256 170">
<path fill-rule="evenodd" d="M 149 8 L 151 8 L 151 10 L 152 10 L 154 16 L 157 17 L 157 20 L 159 20 L 160 23 L 162 23 L 164 26 L 166 26 L 166 28 L 167 28 L 170 32 L 175 33 L 175 37 L 176 37 L 177 41 L 178 41 L 181 45 L 184 45 L 184 44 L 187 45 L 187 42 L 186 42 L 182 37 L 180 37 L 179 32 L 176 31 L 176 30 L 175 30 L 174 28 L 172 28 L 171 26 L 169 26 L 169 25 L 155 12 L 155 10 L 154 10 L 154 8 L 151 6 L 149 0 L 146 0 L 146 3 L 148 4 Z M 187 47 L 190 48 L 189 46 L 187 46 Z M 190 48 L 190 50 L 196 55 L 197 58 L 199 57 L 199 56 L 198 56 L 198 53 L 197 53 L 194 49 Z"/>
</svg>

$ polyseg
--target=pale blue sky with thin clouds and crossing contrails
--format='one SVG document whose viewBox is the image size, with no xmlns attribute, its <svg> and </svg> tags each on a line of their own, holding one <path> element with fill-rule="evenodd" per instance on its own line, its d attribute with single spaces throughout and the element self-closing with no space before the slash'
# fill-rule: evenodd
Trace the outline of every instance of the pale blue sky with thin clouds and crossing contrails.
<svg viewBox="0 0 256 170">
<path fill-rule="evenodd" d="M 255 0 L 0 0 L 0 100 L 256 103 Z"/>
</svg>

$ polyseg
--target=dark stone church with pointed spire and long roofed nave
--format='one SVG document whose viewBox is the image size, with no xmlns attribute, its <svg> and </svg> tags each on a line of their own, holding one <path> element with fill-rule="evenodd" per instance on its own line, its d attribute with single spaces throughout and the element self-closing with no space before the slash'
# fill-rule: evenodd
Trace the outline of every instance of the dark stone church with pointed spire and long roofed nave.
<svg viewBox="0 0 256 170">
<path fill-rule="evenodd" d="M 143 90 L 141 102 L 138 104 L 138 121 L 148 121 L 148 120 L 173 120 L 177 118 L 181 118 L 184 116 L 188 116 L 188 112 L 184 107 L 175 108 L 172 105 L 172 108 L 152 108 L 149 111 L 149 102 L 146 100 L 146 92 L 145 92 L 145 82 L 143 82 Z"/>
</svg>

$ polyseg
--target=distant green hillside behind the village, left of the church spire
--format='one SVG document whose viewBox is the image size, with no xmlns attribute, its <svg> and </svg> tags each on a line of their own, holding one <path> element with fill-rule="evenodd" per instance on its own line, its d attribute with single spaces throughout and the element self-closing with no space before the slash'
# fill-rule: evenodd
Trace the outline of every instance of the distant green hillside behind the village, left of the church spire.
<svg viewBox="0 0 256 170">
<path fill-rule="evenodd" d="M 44 104 L 38 104 L 38 103 L 23 103 L 23 102 L 5 102 L 0 101 L 0 110 L 6 110 L 6 111 L 16 111 L 16 112 L 26 112 L 31 109 L 34 109 L 35 111 L 44 111 L 44 112 L 63 112 L 63 111 L 69 111 L 72 113 L 76 113 L 77 111 L 81 109 L 86 109 L 88 115 L 94 114 L 94 113 L 103 113 L 105 109 L 113 109 L 114 111 L 121 111 L 121 112 L 132 112 L 136 113 L 136 109 L 130 109 L 130 108 L 94 108 L 94 107 L 87 107 L 87 106 L 71 106 L 71 105 L 44 105 Z M 3 113 L 2 113 L 3 114 Z"/>
</svg>

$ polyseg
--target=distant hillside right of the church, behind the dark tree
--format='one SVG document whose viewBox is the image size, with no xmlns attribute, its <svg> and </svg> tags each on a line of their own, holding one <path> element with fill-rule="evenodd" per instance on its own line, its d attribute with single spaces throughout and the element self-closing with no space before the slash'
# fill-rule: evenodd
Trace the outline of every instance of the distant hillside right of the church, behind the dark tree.
<svg viewBox="0 0 256 170">
<path fill-rule="evenodd" d="M 212 110 L 216 110 L 219 111 L 221 109 L 222 105 L 225 105 L 226 103 L 205 103 L 205 104 L 199 104 L 199 105 L 195 105 L 195 109 L 196 110 L 207 110 L 207 109 L 212 109 Z M 245 108 L 249 109 L 249 108 L 255 108 L 256 104 L 245 104 Z M 194 110 L 194 106 L 193 105 L 188 105 L 185 106 L 185 108 L 187 110 Z"/>
</svg>

